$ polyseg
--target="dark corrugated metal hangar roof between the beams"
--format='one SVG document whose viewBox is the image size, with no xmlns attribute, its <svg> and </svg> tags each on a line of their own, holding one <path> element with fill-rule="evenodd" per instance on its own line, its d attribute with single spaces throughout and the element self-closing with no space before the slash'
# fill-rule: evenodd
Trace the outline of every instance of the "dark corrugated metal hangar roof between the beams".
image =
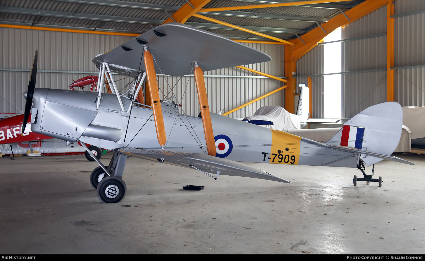
<svg viewBox="0 0 425 261">
<path fill-rule="evenodd" d="M 78 29 L 88 30 L 108 30 L 117 32 L 130 32 L 130 33 L 143 33 L 151 28 L 149 24 L 140 21 L 142 19 L 152 19 L 151 25 L 156 26 L 161 24 L 162 21 L 168 19 L 168 14 L 173 14 L 173 11 L 168 11 L 168 14 L 163 10 L 152 10 L 147 8 L 134 8 L 126 6 L 116 6 L 123 2 L 136 3 L 136 4 L 155 4 L 158 6 L 171 6 L 170 8 L 176 9 L 176 7 L 183 6 L 187 3 L 184 0 L 114 0 L 114 5 L 108 5 L 108 2 L 99 2 L 99 4 L 84 3 L 81 0 L 1 0 L 0 1 L 0 22 L 8 24 L 19 24 L 19 25 L 34 25 L 34 26 L 50 26 L 50 27 L 74 27 Z M 270 2 L 270 1 L 269 1 Z M 340 4 L 347 6 L 348 8 L 361 3 L 361 0 L 348 1 L 348 2 L 336 2 L 332 4 Z M 109 2 L 111 3 L 111 2 Z M 226 6 L 247 6 L 256 5 L 262 3 L 244 2 L 241 0 L 212 0 L 204 8 L 214 7 L 226 7 Z M 322 4 L 323 6 L 324 4 Z M 326 4 L 325 4 L 326 5 Z M 174 6 L 174 7 L 173 7 Z M 6 8 L 8 7 L 8 8 Z M 29 9 L 21 9 L 29 8 Z M 31 12 L 30 12 L 31 11 Z M 38 15 L 37 11 L 40 11 Z M 42 11 L 46 11 L 43 13 Z M 53 11 L 53 13 L 47 14 L 47 11 Z M 291 15 L 301 17 L 320 17 L 330 18 L 339 12 L 335 8 L 315 8 L 307 6 L 281 6 L 273 8 L 255 8 L 255 9 L 243 9 L 239 10 L 246 12 L 246 14 L 253 14 L 254 16 L 258 13 L 262 14 L 279 14 L 279 15 Z M 59 13 L 64 12 L 64 13 Z M 54 15 L 58 14 L 58 15 Z M 59 15 L 60 14 L 60 15 Z M 81 15 L 80 15 L 81 14 Z M 85 15 L 86 17 L 83 17 Z M 93 16 L 90 16 L 93 15 Z M 233 25 L 239 26 L 255 26 L 265 28 L 286 28 L 286 29 L 299 29 L 309 31 L 315 28 L 317 25 L 315 22 L 309 21 L 298 21 L 298 20 L 283 20 L 283 19 L 265 19 L 257 17 L 237 17 L 237 16 L 226 16 L 218 14 L 203 14 L 207 17 L 211 17 L 223 22 L 227 22 Z M 73 18 L 73 16 L 76 16 Z M 89 17 L 87 17 L 89 16 Z M 108 19 L 99 17 L 108 16 Z M 119 17 L 120 21 L 115 22 L 114 17 Z M 86 19 L 87 18 L 87 19 Z M 132 21 L 122 21 L 128 18 Z M 137 20 L 139 19 L 139 20 Z M 136 21 L 137 20 L 137 21 Z M 301 19 L 302 20 L 302 19 Z M 201 18 L 190 17 L 187 22 L 198 22 L 198 23 L 211 23 Z M 222 36 L 229 38 L 258 38 L 263 39 L 261 36 L 256 36 L 251 33 L 246 33 L 239 30 L 223 30 L 223 29 L 204 29 L 213 33 L 218 33 Z M 293 33 L 275 33 L 275 32 L 263 32 L 264 34 L 274 36 L 280 39 L 291 39 L 295 37 Z"/>
</svg>

